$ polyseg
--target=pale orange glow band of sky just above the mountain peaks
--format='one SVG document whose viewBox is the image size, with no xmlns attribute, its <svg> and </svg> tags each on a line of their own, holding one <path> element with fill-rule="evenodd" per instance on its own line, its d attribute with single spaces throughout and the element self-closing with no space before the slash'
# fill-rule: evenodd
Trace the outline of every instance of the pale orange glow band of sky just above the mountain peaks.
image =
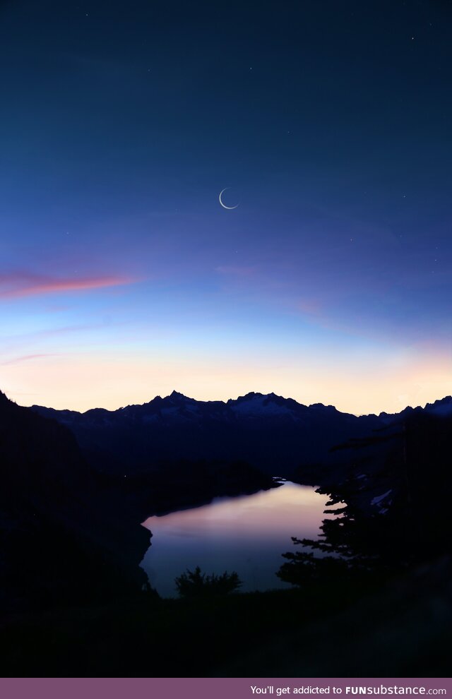
<svg viewBox="0 0 452 699">
<path fill-rule="evenodd" d="M 21 360 L 21 361 L 20 361 Z M 434 369 L 432 369 L 434 367 Z M 400 412 L 452 393 L 446 357 L 411 357 L 405 363 L 334 366 L 275 359 L 143 357 L 125 354 L 52 354 L 19 357 L 0 366 L 0 388 L 20 405 L 116 410 L 177 390 L 196 400 L 228 400 L 250 391 L 276 393 L 304 405 L 322 402 L 342 412 Z"/>
</svg>

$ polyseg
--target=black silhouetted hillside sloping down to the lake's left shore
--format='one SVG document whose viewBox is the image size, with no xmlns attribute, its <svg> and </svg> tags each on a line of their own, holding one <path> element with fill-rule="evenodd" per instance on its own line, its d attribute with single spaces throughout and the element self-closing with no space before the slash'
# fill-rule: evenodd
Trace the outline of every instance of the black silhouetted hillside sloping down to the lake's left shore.
<svg viewBox="0 0 452 699">
<path fill-rule="evenodd" d="M 143 582 L 148 535 L 105 494 L 73 432 L 3 393 L 0 542 L 0 608 L 9 611 L 105 598 Z"/>
</svg>

